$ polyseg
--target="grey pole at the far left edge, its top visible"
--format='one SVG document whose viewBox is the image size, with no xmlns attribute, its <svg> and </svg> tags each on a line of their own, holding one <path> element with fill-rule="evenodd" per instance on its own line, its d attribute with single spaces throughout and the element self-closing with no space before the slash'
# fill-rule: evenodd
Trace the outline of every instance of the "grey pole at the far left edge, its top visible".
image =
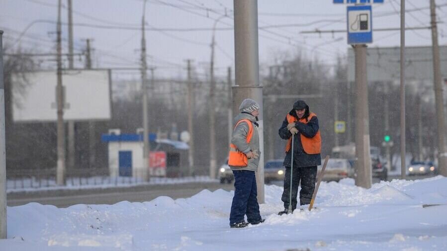
<svg viewBox="0 0 447 251">
<path fill-rule="evenodd" d="M 3 83 L 3 31 L 0 30 L 0 239 L 7 238 L 6 228 L 6 145 Z"/>
</svg>

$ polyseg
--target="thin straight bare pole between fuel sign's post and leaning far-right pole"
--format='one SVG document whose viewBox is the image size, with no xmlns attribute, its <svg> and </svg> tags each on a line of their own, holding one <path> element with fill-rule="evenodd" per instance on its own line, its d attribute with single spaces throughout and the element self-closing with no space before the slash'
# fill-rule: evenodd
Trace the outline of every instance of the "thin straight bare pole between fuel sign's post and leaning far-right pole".
<svg viewBox="0 0 447 251">
<path fill-rule="evenodd" d="M 400 176 L 405 179 L 405 0 L 400 0 Z"/>
</svg>

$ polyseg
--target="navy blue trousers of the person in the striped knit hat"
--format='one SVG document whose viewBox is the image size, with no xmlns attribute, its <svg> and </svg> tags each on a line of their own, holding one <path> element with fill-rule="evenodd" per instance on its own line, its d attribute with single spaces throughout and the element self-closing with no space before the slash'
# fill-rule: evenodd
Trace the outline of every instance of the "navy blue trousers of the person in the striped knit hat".
<svg viewBox="0 0 447 251">
<path fill-rule="evenodd" d="M 230 225 L 245 222 L 247 215 L 249 223 L 261 221 L 258 204 L 258 190 L 254 171 L 233 170 L 234 197 L 231 203 Z"/>
</svg>

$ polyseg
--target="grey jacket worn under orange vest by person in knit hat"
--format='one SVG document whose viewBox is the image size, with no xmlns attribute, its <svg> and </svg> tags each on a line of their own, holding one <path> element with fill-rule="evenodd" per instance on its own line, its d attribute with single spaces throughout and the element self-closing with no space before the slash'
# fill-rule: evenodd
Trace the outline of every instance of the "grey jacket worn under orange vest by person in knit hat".
<svg viewBox="0 0 447 251">
<path fill-rule="evenodd" d="M 253 136 L 250 140 L 250 143 L 247 144 L 247 135 L 248 135 L 248 124 L 245 122 L 241 122 L 234 130 L 233 134 L 231 135 L 231 143 L 236 145 L 239 151 L 247 154 L 250 151 L 258 151 L 258 153 L 261 155 L 261 152 L 259 151 L 259 134 L 258 134 L 258 127 L 255 126 L 256 118 L 247 113 L 239 113 L 234 118 L 233 121 L 233 128 L 234 126 L 239 122 L 241 119 L 248 119 L 252 121 L 253 126 Z M 250 170 L 250 171 L 258 171 L 258 164 L 259 164 L 259 158 L 258 159 L 249 159 L 248 160 L 248 166 L 247 167 L 231 167 L 232 170 Z"/>
</svg>

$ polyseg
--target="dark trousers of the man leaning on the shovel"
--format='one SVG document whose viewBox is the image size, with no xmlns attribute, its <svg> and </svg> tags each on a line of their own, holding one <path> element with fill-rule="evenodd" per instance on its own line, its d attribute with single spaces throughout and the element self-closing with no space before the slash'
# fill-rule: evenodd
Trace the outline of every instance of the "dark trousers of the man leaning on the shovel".
<svg viewBox="0 0 447 251">
<path fill-rule="evenodd" d="M 315 190 L 315 182 L 317 179 L 317 167 L 293 167 L 292 182 L 292 210 L 296 208 L 296 196 L 298 194 L 298 185 L 301 183 L 299 192 L 300 205 L 310 204 L 312 195 Z M 284 191 L 281 200 L 284 202 L 284 208 L 289 207 L 290 201 L 290 167 L 285 167 L 284 175 Z"/>
</svg>

